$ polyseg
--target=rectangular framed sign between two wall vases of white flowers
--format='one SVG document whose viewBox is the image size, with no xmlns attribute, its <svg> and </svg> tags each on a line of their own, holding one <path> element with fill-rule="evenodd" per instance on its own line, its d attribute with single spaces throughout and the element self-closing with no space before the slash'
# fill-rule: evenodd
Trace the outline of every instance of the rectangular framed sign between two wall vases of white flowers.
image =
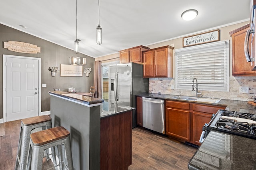
<svg viewBox="0 0 256 170">
<path fill-rule="evenodd" d="M 83 76 L 83 66 L 60 64 L 60 76 Z"/>
</svg>

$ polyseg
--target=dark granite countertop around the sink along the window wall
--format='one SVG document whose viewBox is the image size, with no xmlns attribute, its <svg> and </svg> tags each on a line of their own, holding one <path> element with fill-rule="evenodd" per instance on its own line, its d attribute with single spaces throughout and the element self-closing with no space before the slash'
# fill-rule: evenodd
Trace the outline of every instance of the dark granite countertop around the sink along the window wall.
<svg viewBox="0 0 256 170">
<path fill-rule="evenodd" d="M 242 111 L 246 113 L 256 114 L 256 106 L 250 105 L 246 101 L 221 99 L 218 103 L 206 103 L 206 102 L 196 102 L 196 101 L 188 101 L 188 100 L 182 100 L 182 99 L 173 99 L 173 97 L 179 96 L 179 95 L 156 94 L 156 93 L 141 93 L 136 96 L 147 97 L 147 98 L 157 98 L 157 99 L 167 99 L 167 100 L 178 100 L 183 102 L 185 101 L 185 102 L 192 102 L 192 103 L 210 104 L 210 105 L 216 105 L 216 106 L 226 106 L 227 110 Z"/>
</svg>

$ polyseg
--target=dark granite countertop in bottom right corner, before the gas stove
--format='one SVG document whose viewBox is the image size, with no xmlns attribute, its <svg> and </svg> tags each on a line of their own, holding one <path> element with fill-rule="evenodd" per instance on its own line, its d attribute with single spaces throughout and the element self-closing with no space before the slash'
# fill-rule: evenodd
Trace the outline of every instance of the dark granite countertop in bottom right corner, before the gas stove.
<svg viewBox="0 0 256 170">
<path fill-rule="evenodd" d="M 254 145 L 255 139 L 212 130 L 188 162 L 188 169 L 256 169 Z"/>
</svg>

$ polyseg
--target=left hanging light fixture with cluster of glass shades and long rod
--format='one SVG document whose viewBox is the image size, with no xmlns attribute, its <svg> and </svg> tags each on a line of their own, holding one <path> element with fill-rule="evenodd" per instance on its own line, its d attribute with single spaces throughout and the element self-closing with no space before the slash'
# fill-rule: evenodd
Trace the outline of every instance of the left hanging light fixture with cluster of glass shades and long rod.
<svg viewBox="0 0 256 170">
<path fill-rule="evenodd" d="M 79 41 L 81 41 L 81 40 L 77 38 L 77 0 L 76 0 L 76 40 L 75 40 L 75 54 L 76 54 L 76 56 L 69 57 L 69 64 L 86 65 L 86 58 L 83 58 L 83 64 L 80 64 L 80 57 L 78 57 Z"/>
</svg>

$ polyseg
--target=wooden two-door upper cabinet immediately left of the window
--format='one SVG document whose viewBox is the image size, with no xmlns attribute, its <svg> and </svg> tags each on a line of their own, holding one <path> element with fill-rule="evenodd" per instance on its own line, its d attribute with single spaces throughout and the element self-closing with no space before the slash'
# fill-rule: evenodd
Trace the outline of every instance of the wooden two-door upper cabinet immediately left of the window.
<svg viewBox="0 0 256 170">
<path fill-rule="evenodd" d="M 169 45 L 143 51 L 143 77 L 172 77 L 173 49 Z"/>
</svg>

